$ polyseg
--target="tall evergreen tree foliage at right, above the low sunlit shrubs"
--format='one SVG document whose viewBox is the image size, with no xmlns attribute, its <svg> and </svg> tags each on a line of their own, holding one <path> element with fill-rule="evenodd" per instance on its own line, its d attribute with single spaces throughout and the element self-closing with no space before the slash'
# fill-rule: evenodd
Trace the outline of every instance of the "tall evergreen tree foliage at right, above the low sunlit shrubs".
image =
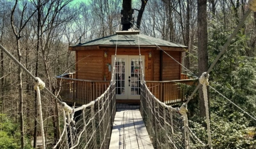
<svg viewBox="0 0 256 149">
<path fill-rule="evenodd" d="M 209 64 L 217 57 L 222 46 L 234 30 L 232 25 L 225 26 L 222 22 L 212 20 L 209 28 Z M 231 99 L 248 113 L 256 115 L 256 58 L 248 54 L 248 37 L 242 28 L 231 41 L 228 49 L 217 62 L 210 73 L 210 84 L 225 97 Z M 225 99 L 215 91 L 210 90 L 211 110 L 218 111 Z M 224 101 L 226 102 L 226 101 Z M 212 104 L 213 103 L 213 104 Z M 227 102 L 228 115 L 234 111 L 241 111 Z M 247 116 L 246 116 L 247 117 Z M 256 121 L 251 120 L 249 126 L 255 126 Z"/>
</svg>

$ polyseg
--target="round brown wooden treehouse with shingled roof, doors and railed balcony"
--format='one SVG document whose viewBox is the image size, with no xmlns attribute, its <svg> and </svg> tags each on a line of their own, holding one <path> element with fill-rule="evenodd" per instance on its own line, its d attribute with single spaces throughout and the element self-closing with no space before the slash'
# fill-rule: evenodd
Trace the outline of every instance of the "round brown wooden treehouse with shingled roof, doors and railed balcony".
<svg viewBox="0 0 256 149">
<path fill-rule="evenodd" d="M 174 59 L 181 63 L 186 48 L 139 31 L 117 31 L 111 36 L 70 46 L 69 50 L 75 52 L 76 71 L 57 77 L 60 95 L 65 102 L 76 105 L 95 100 L 109 87 L 114 67 L 117 103 L 140 102 L 142 71 L 156 98 L 169 105 L 183 102 L 188 95 L 180 84 L 191 85 L 193 81 L 181 74 L 181 65 Z"/>
</svg>

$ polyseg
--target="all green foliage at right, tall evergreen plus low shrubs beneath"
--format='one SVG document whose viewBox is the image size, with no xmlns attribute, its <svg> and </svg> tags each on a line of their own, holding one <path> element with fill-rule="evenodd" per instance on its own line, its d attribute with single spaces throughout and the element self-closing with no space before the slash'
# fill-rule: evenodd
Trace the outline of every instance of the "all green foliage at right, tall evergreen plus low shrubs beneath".
<svg viewBox="0 0 256 149">
<path fill-rule="evenodd" d="M 212 20 L 208 30 L 208 63 L 210 64 L 219 54 L 222 46 L 227 41 L 234 24 L 224 25 L 222 22 Z M 231 41 L 227 51 L 221 56 L 210 73 L 210 85 L 221 92 L 225 97 L 239 107 L 256 115 L 256 58 L 248 47 L 248 36 L 241 29 Z M 248 52 L 249 51 L 249 52 Z M 216 149 L 255 149 L 256 130 L 249 130 L 250 126 L 256 126 L 256 121 L 243 115 L 240 109 L 232 105 L 217 92 L 209 89 L 211 138 L 213 148 Z M 196 135 L 207 142 L 205 123 L 197 116 L 198 103 L 188 105 L 190 127 Z M 207 144 L 207 143 L 206 143 Z M 197 148 L 196 144 L 193 144 Z"/>
</svg>

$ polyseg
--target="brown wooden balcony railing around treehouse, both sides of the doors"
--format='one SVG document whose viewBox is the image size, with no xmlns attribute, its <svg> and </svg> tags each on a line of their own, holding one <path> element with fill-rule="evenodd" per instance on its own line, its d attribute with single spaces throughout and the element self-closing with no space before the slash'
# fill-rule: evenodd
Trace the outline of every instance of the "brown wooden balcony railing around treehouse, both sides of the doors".
<svg viewBox="0 0 256 149">
<path fill-rule="evenodd" d="M 72 79 L 73 74 L 57 76 L 59 95 L 63 101 L 84 105 L 99 97 L 107 90 L 110 81 L 92 81 Z M 146 85 L 152 94 L 167 105 L 175 105 L 177 102 L 185 102 L 191 95 L 182 84 L 192 86 L 195 79 L 174 81 L 146 81 Z"/>
</svg>

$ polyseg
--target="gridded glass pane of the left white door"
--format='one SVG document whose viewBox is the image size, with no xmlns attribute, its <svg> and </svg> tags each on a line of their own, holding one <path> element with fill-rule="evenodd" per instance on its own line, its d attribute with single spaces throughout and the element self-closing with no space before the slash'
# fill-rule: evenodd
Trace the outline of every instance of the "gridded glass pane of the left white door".
<svg viewBox="0 0 256 149">
<path fill-rule="evenodd" d="M 117 58 L 115 61 L 116 94 L 124 95 L 125 58 Z"/>
</svg>

